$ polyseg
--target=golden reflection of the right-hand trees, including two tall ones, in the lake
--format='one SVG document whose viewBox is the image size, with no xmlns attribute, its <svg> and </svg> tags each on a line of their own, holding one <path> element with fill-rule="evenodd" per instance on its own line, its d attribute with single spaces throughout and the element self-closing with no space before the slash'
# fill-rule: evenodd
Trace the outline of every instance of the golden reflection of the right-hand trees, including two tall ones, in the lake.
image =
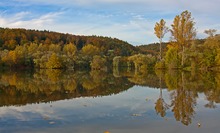
<svg viewBox="0 0 220 133">
<path fill-rule="evenodd" d="M 166 116 L 170 109 L 177 121 L 184 125 L 192 123 L 199 93 L 204 93 L 207 108 L 216 108 L 220 102 L 220 73 L 215 72 L 185 72 L 185 71 L 160 71 L 154 72 L 121 72 L 128 76 L 128 80 L 136 85 L 158 88 L 159 98 L 155 102 L 155 111 L 161 117 Z M 162 91 L 167 88 L 169 101 L 163 98 Z"/>
</svg>

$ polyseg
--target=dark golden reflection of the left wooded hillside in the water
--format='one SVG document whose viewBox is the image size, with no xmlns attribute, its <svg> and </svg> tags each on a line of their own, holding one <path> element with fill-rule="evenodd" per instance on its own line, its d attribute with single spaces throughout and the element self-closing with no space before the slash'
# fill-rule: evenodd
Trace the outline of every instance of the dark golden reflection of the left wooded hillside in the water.
<svg viewBox="0 0 220 133">
<path fill-rule="evenodd" d="M 0 75 L 0 106 L 117 94 L 134 84 L 100 71 L 37 70 Z"/>
</svg>

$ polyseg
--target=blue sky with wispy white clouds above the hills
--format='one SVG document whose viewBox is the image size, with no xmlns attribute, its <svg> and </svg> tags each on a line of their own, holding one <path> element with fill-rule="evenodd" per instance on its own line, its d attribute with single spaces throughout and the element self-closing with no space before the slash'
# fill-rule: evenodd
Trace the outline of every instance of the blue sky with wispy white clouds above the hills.
<svg viewBox="0 0 220 133">
<path fill-rule="evenodd" d="M 141 45 L 158 42 L 156 22 L 164 19 L 171 27 L 185 10 L 196 22 L 197 38 L 206 37 L 206 29 L 220 33 L 219 5 L 220 0 L 1 0 L 0 27 L 108 36 Z"/>
</svg>

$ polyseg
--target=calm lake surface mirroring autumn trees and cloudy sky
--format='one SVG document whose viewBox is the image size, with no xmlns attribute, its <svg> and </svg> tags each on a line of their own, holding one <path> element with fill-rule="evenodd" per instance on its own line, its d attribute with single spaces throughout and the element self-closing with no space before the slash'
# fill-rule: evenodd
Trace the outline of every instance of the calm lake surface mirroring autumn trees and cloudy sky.
<svg viewBox="0 0 220 133">
<path fill-rule="evenodd" d="M 220 73 L 0 73 L 1 133 L 219 133 Z"/>
</svg>

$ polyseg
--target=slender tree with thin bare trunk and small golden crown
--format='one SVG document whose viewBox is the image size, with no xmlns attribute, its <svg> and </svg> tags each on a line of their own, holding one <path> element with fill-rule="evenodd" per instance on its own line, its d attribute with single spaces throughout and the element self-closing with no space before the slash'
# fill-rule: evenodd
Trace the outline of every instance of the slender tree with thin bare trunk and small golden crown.
<svg viewBox="0 0 220 133">
<path fill-rule="evenodd" d="M 154 34 L 159 38 L 160 41 L 160 61 L 162 60 L 162 39 L 164 35 L 168 32 L 168 27 L 165 26 L 166 22 L 161 19 L 160 22 L 155 24 Z"/>
</svg>

